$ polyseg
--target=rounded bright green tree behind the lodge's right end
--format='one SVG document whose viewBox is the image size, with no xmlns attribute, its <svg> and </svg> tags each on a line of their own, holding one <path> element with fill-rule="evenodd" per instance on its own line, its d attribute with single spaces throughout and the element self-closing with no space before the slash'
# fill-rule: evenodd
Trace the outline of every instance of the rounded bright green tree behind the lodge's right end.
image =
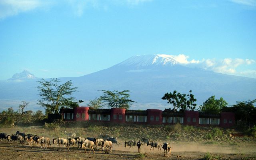
<svg viewBox="0 0 256 160">
<path fill-rule="evenodd" d="M 211 96 L 199 108 L 201 112 L 218 114 L 227 105 L 228 103 L 222 97 L 218 100 L 215 96 Z"/>
</svg>

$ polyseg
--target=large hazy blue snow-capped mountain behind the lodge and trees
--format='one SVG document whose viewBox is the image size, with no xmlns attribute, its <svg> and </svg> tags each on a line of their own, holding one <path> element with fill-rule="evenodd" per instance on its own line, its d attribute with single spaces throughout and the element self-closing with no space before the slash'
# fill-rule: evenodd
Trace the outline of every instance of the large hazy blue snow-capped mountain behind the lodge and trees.
<svg viewBox="0 0 256 160">
<path fill-rule="evenodd" d="M 62 83 L 71 80 L 78 87 L 73 96 L 85 101 L 102 95 L 100 90 L 130 90 L 131 99 L 136 101 L 130 109 L 170 108 L 170 104 L 162 100 L 166 92 L 176 90 L 187 94 L 192 90 L 201 105 L 210 96 L 223 97 L 229 105 L 236 101 L 255 99 L 256 79 L 206 71 L 200 68 L 188 68 L 181 65 L 176 57 L 162 54 L 134 56 L 105 70 L 81 77 L 58 78 Z M 25 74 L 26 75 L 26 74 Z M 21 76 L 20 76 L 21 77 Z M 38 100 L 36 79 L 0 81 L 0 108 L 8 102 Z M 242 94 L 241 94 L 242 93 Z M 5 106 L 3 106 L 5 104 Z M 36 104 L 36 103 L 35 103 Z M 18 105 L 17 105 L 18 106 Z"/>
</svg>

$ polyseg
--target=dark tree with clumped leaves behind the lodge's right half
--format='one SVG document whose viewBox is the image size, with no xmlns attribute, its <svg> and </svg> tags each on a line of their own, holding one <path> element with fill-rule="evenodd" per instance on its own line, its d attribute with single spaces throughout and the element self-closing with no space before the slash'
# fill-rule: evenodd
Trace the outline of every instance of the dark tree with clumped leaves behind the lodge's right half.
<svg viewBox="0 0 256 160">
<path fill-rule="evenodd" d="M 166 93 L 162 97 L 162 100 L 168 100 L 168 104 L 172 104 L 173 111 L 176 112 L 179 108 L 181 112 L 184 112 L 185 110 L 194 110 L 196 108 L 196 99 L 194 98 L 194 95 L 192 94 L 192 90 L 189 91 L 189 94 L 181 94 L 177 93 L 176 90 L 173 91 L 173 93 Z M 166 109 L 166 110 L 171 110 Z"/>
</svg>

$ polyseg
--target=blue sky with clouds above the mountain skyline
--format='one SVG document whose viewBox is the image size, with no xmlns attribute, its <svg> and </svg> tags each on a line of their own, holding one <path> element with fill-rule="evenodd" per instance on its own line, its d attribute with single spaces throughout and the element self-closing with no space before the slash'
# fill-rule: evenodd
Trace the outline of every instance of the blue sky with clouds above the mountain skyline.
<svg viewBox="0 0 256 160">
<path fill-rule="evenodd" d="M 78 77 L 144 54 L 256 78 L 256 0 L 0 0 L 0 80 Z"/>
</svg>

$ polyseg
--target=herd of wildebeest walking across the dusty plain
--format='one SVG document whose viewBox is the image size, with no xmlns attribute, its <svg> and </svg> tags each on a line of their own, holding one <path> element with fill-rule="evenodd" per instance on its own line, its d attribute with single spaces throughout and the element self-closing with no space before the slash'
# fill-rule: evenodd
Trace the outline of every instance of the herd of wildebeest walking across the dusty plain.
<svg viewBox="0 0 256 160">
<path fill-rule="evenodd" d="M 60 145 L 63 145 L 63 149 L 67 148 L 67 150 L 69 150 L 70 145 L 73 146 L 73 148 L 76 146 L 76 144 L 78 145 L 78 148 L 84 148 L 85 149 L 85 154 L 87 154 L 86 152 L 86 148 L 90 149 L 90 152 L 93 150 L 98 150 L 98 147 L 100 147 L 100 149 L 102 150 L 102 153 L 111 153 L 112 152 L 112 148 L 113 148 L 113 144 L 119 145 L 121 144 L 120 142 L 118 142 L 118 139 L 116 137 L 113 136 L 109 136 L 108 134 L 100 134 L 99 138 L 94 138 L 94 137 L 80 137 L 80 136 L 76 136 L 75 133 L 68 133 L 65 131 L 66 136 L 68 136 L 67 138 L 53 138 L 52 139 L 52 143 L 55 144 L 55 149 L 57 149 L 57 146 L 59 145 L 59 149 L 60 149 Z M 37 135 L 33 135 L 33 134 L 26 134 L 24 132 L 20 132 L 17 131 L 16 134 L 6 134 L 6 133 L 0 133 L 0 141 L 2 139 L 2 142 L 4 142 L 4 139 L 7 139 L 9 143 L 10 141 L 10 145 L 12 145 L 12 142 L 14 141 L 16 144 L 20 143 L 20 144 L 24 144 L 24 142 L 26 141 L 28 143 L 29 146 L 33 146 L 33 145 L 40 145 L 41 148 L 46 146 L 46 148 L 50 148 L 50 138 L 48 137 L 43 137 L 43 136 L 37 136 Z M 163 145 L 153 141 L 150 138 L 144 138 L 142 137 L 140 140 L 136 141 L 136 140 L 130 140 L 130 141 L 125 141 L 124 142 L 124 147 L 126 146 L 137 146 L 138 147 L 138 152 L 140 153 L 140 149 L 142 147 L 142 145 L 147 145 L 147 146 L 151 146 L 149 153 L 151 152 L 151 149 L 153 148 L 158 148 L 158 151 L 160 150 L 161 152 L 161 148 L 164 149 L 164 156 L 172 156 L 171 153 L 171 147 L 170 147 L 170 143 L 165 142 Z M 157 152 L 158 152 L 157 151 Z M 89 154 L 90 154 L 89 152 Z M 162 152 L 161 152 L 162 153 Z"/>
</svg>

